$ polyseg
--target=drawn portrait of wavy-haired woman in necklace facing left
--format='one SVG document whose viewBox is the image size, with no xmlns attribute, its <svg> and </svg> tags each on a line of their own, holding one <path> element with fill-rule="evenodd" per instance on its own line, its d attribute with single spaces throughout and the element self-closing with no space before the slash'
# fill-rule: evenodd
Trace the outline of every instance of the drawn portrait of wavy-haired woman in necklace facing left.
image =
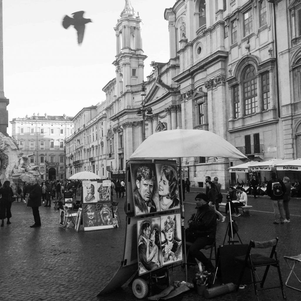
<svg viewBox="0 0 301 301">
<path fill-rule="evenodd" d="M 160 211 L 180 208 L 177 166 L 156 164 Z"/>
</svg>

